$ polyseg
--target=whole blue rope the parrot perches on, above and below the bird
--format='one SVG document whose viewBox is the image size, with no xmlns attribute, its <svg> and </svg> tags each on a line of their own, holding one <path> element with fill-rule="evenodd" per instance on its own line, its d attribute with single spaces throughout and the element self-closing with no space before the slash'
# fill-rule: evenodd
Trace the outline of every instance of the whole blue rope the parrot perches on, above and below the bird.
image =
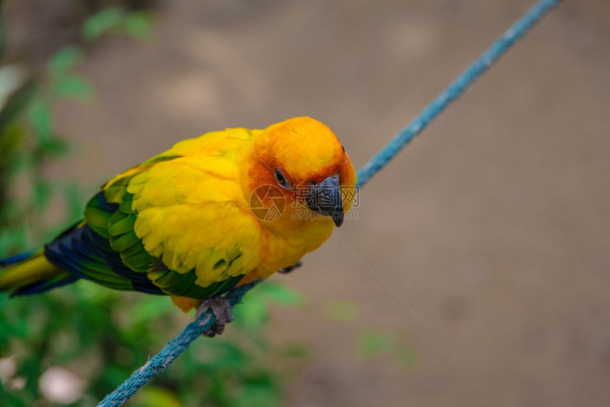
<svg viewBox="0 0 610 407">
<path fill-rule="evenodd" d="M 380 169 L 392 160 L 402 150 L 402 148 L 413 140 L 416 135 L 428 126 L 438 114 L 445 110 L 452 101 L 460 97 L 464 91 L 470 87 L 484 72 L 501 57 L 504 52 L 509 50 L 519 38 L 545 16 L 553 7 L 558 6 L 561 0 L 540 0 L 523 17 L 521 17 L 504 35 L 499 38 L 487 51 L 468 67 L 455 81 L 449 85 L 443 93 L 436 97 L 431 104 L 421 111 L 409 126 L 401 130 L 381 151 L 372 157 L 358 171 L 358 186 L 366 184 Z M 250 283 L 239 287 L 228 295 L 231 306 L 235 306 L 243 299 L 243 296 L 250 291 L 257 283 Z M 182 333 L 163 347 L 161 352 L 148 359 L 148 362 L 140 369 L 133 372 L 131 377 L 118 386 L 111 394 L 101 401 L 98 407 L 118 407 L 135 394 L 140 387 L 153 379 L 157 374 L 166 369 L 174 360 L 196 340 L 209 330 L 214 324 L 215 318 L 211 311 L 203 313 L 199 318 L 184 328 Z"/>
</svg>

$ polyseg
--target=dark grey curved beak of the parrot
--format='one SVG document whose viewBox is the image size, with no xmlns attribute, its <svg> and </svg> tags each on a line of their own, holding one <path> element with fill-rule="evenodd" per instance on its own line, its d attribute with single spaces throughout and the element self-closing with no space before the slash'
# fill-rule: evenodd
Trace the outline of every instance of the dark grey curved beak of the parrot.
<svg viewBox="0 0 610 407">
<path fill-rule="evenodd" d="M 343 199 L 338 175 L 328 177 L 320 184 L 312 185 L 305 201 L 312 211 L 333 218 L 337 228 L 343 224 L 345 213 L 343 213 Z"/>
</svg>

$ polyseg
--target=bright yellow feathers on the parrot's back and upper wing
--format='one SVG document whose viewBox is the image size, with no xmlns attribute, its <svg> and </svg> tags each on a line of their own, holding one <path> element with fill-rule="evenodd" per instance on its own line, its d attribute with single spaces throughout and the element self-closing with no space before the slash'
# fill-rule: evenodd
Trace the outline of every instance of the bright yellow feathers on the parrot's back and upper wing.
<svg viewBox="0 0 610 407">
<path fill-rule="evenodd" d="M 199 286 L 247 274 L 259 262 L 260 225 L 238 181 L 238 157 L 252 135 L 236 128 L 181 141 L 104 186 L 128 179 L 135 235 L 167 268 L 194 269 Z"/>
</svg>

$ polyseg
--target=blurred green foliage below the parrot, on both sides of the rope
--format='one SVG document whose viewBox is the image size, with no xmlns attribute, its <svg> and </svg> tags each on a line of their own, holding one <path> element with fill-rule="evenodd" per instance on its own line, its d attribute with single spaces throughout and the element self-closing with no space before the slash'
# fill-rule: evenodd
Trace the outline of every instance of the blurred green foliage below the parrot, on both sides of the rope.
<svg viewBox="0 0 610 407">
<path fill-rule="evenodd" d="M 299 345 L 270 344 L 265 328 L 277 292 L 299 298 L 278 284 L 253 290 L 248 307 L 235 308 L 225 335 L 194 342 L 132 405 L 279 406 L 289 372 L 308 352 Z M 260 306 L 253 311 L 250 302 Z M 94 405 L 189 319 L 166 297 L 121 293 L 87 281 L 27 299 L 3 296 L 0 309 L 0 357 L 16 355 L 16 369 L 0 384 L 0 400 L 9 406 L 52 405 L 40 392 L 40 377 L 55 366 L 87 383 L 84 395 L 69 405 Z"/>
</svg>

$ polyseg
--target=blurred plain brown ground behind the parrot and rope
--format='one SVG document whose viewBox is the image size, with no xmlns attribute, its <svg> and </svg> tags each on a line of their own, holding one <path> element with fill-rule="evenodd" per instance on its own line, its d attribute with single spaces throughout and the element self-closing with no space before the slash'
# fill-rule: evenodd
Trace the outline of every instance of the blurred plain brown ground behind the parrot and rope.
<svg viewBox="0 0 610 407">
<path fill-rule="evenodd" d="M 93 191 L 177 140 L 299 115 L 360 166 L 532 3 L 162 1 L 150 44 L 87 59 L 99 100 L 58 106 L 78 154 L 53 174 Z M 275 277 L 310 299 L 272 328 L 316 352 L 290 406 L 610 405 L 609 74 L 610 2 L 565 1 Z M 331 299 L 408 334 L 416 367 L 357 360 Z"/>
</svg>

